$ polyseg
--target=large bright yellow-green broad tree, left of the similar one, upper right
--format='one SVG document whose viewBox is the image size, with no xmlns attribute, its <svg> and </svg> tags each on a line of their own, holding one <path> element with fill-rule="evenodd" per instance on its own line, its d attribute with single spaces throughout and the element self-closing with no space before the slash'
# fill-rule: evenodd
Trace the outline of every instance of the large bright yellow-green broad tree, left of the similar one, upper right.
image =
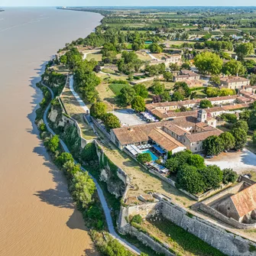
<svg viewBox="0 0 256 256">
<path fill-rule="evenodd" d="M 222 70 L 223 61 L 216 53 L 207 51 L 196 55 L 194 64 L 202 73 L 219 75 Z"/>
</svg>

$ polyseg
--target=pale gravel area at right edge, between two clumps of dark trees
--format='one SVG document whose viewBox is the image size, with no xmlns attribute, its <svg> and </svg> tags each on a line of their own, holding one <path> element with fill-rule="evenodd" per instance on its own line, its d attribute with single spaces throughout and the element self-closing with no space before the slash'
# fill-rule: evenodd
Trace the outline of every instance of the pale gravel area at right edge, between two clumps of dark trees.
<svg viewBox="0 0 256 256">
<path fill-rule="evenodd" d="M 212 159 L 206 159 L 206 164 L 216 164 L 221 169 L 232 168 L 237 173 L 243 173 L 248 170 L 256 171 L 256 155 L 244 149 L 240 152 L 222 153 Z"/>
</svg>

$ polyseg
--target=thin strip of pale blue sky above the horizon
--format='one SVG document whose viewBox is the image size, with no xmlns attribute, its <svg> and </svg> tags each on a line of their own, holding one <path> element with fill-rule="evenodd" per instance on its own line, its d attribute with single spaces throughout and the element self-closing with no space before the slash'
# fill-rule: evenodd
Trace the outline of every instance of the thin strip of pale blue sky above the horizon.
<svg viewBox="0 0 256 256">
<path fill-rule="evenodd" d="M 176 6 L 176 5 L 225 5 L 225 6 L 245 6 L 245 5 L 256 5 L 255 0 L 180 0 L 180 1 L 171 1 L 171 0 L 1 0 L 1 6 L 114 6 L 114 5 L 158 5 L 158 6 Z"/>
</svg>

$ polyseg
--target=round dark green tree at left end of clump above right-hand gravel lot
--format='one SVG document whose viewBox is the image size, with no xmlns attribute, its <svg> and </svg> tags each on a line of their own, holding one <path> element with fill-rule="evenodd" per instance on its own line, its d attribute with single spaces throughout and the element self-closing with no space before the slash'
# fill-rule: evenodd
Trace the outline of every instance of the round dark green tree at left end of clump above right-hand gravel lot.
<svg viewBox="0 0 256 256">
<path fill-rule="evenodd" d="M 215 156 L 224 151 L 222 138 L 212 135 L 203 141 L 203 150 L 207 156 Z"/>
</svg>

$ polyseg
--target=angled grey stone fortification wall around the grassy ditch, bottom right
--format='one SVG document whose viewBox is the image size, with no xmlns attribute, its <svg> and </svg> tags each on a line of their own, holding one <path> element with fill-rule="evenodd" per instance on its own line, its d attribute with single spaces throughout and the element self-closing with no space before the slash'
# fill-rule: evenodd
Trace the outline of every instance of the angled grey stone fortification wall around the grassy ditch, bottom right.
<svg viewBox="0 0 256 256">
<path fill-rule="evenodd" d="M 154 240 L 151 241 L 152 238 L 149 239 L 150 237 L 144 233 L 141 235 L 139 230 L 134 232 L 134 227 L 127 222 L 127 219 L 129 215 L 135 214 L 141 214 L 143 217 L 161 214 L 164 219 L 168 219 L 170 222 L 179 225 L 187 232 L 196 235 L 196 237 L 206 241 L 207 244 L 219 249 L 219 251 L 222 251 L 224 254 L 230 256 L 256 255 L 256 244 L 253 241 L 226 231 L 222 225 L 202 219 L 198 215 L 193 215 L 181 206 L 177 206 L 165 199 L 157 203 L 146 203 L 144 205 L 131 206 L 128 208 L 122 207 L 118 222 L 119 231 L 123 234 L 128 233 L 134 235 L 139 240 L 143 238 L 147 241 L 147 245 L 154 248 L 154 250 L 156 248 L 155 243 L 157 243 L 157 247 L 161 246 L 162 248 L 164 248 L 164 244 L 160 244 Z M 147 236 L 147 238 L 144 236 Z M 170 251 L 164 253 L 169 255 L 168 253 L 170 253 Z"/>
</svg>

